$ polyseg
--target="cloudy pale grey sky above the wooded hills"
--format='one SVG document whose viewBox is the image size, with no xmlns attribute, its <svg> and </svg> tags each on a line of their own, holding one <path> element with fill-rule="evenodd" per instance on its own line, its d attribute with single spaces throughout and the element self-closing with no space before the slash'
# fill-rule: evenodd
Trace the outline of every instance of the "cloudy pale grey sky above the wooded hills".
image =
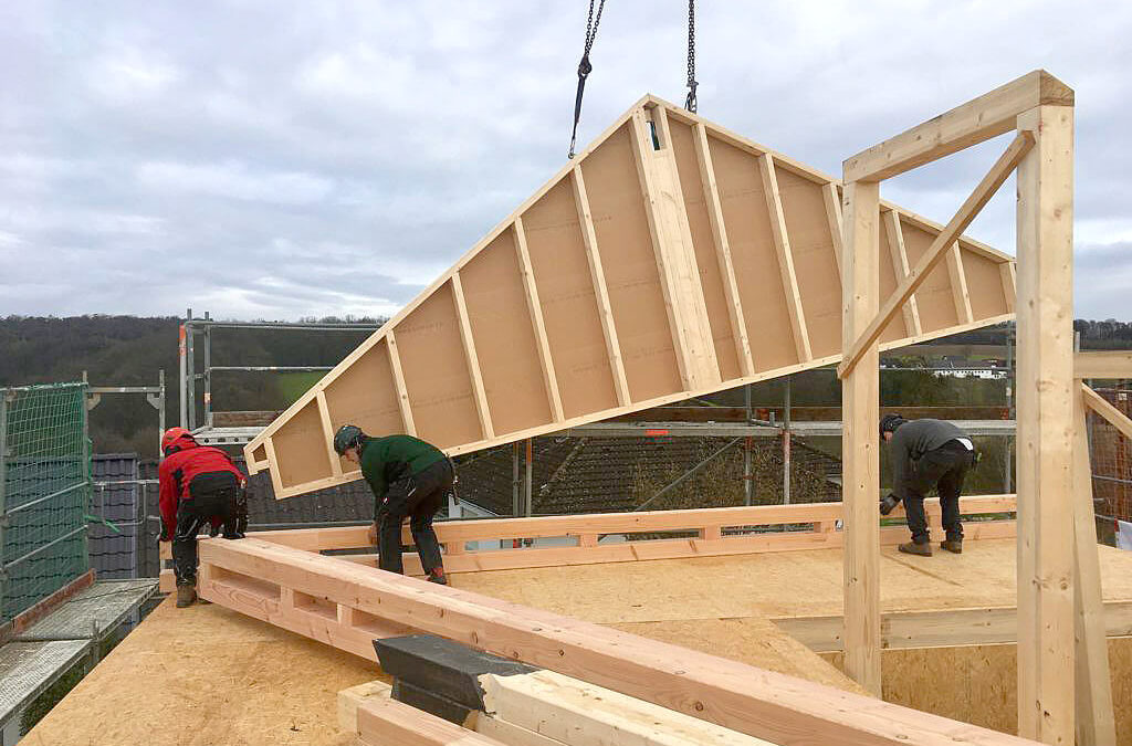
<svg viewBox="0 0 1132 746">
<path fill-rule="evenodd" d="M 701 0 L 700 113 L 827 173 L 1045 68 L 1077 307 L 1132 320 L 1132 3 Z M 392 314 L 565 162 L 585 0 L 0 3 L 0 315 Z M 580 143 L 683 102 L 683 0 L 608 0 Z M 885 182 L 946 221 L 1005 142 Z M 969 231 L 1013 252 L 1013 188 Z"/>
</svg>

